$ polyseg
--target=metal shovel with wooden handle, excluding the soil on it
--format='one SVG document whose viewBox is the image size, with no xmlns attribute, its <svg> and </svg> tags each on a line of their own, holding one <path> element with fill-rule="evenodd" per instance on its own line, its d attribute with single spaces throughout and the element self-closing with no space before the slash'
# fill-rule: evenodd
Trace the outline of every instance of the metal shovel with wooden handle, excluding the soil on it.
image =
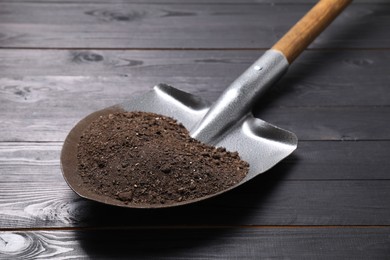
<svg viewBox="0 0 390 260">
<path fill-rule="evenodd" d="M 214 103 L 165 84 L 127 102 L 88 115 L 67 136 L 61 152 L 61 167 L 68 185 L 81 197 L 131 208 L 160 208 L 192 203 L 235 188 L 269 170 L 297 147 L 295 134 L 255 118 L 255 102 L 287 71 L 297 56 L 337 17 L 352 0 L 322 0 L 316 4 L 270 50 L 239 76 Z M 77 145 L 84 129 L 110 113 L 143 111 L 172 117 L 207 144 L 237 151 L 249 163 L 247 176 L 222 192 L 169 205 L 125 205 L 83 187 L 77 170 Z"/>
</svg>

